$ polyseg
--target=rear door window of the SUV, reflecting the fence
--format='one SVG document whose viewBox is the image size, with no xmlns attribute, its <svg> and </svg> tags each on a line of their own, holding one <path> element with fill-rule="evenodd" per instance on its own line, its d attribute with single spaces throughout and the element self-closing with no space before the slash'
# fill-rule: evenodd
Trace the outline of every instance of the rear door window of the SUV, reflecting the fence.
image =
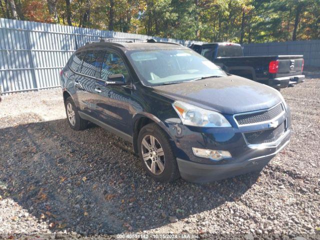
<svg viewBox="0 0 320 240">
<path fill-rule="evenodd" d="M 97 78 L 100 77 L 103 55 L 104 51 L 87 51 L 82 63 L 81 73 Z"/>
</svg>

